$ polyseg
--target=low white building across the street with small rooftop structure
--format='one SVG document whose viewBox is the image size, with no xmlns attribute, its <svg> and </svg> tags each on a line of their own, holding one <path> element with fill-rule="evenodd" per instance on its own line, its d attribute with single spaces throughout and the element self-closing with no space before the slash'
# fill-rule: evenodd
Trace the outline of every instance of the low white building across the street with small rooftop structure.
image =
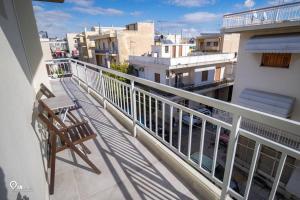
<svg viewBox="0 0 300 200">
<path fill-rule="evenodd" d="M 153 45 L 151 54 L 130 56 L 129 63 L 135 68 L 135 75 L 141 78 L 230 101 L 235 53 L 203 53 L 195 56 L 191 55 L 194 46 L 168 43 Z"/>
</svg>

